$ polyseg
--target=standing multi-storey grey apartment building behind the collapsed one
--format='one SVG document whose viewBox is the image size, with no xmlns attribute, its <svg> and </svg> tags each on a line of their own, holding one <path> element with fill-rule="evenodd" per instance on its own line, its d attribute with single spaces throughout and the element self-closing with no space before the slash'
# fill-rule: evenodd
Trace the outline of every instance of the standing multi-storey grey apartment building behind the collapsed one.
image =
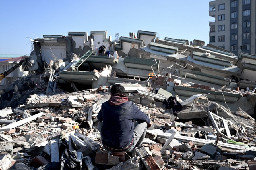
<svg viewBox="0 0 256 170">
<path fill-rule="evenodd" d="M 256 54 L 256 1 L 216 0 L 209 2 L 209 42 L 238 55 Z"/>
</svg>

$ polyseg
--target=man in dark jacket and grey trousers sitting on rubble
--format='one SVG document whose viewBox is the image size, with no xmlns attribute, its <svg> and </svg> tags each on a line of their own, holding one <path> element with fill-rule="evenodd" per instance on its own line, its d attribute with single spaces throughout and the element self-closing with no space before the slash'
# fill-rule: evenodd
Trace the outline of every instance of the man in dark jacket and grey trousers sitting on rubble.
<svg viewBox="0 0 256 170">
<path fill-rule="evenodd" d="M 112 86 L 111 97 L 97 116 L 102 144 L 108 151 L 131 152 L 142 145 L 146 129 L 152 125 L 149 117 L 124 94 L 122 85 Z M 138 121 L 135 126 L 133 120 Z"/>
</svg>

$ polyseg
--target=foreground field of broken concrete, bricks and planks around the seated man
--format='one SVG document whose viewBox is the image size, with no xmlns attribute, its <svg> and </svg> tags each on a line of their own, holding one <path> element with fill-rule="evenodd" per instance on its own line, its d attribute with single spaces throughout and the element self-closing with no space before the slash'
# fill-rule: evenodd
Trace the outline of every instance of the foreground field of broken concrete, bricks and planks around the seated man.
<svg viewBox="0 0 256 170">
<path fill-rule="evenodd" d="M 255 165 L 256 124 L 242 109 L 230 112 L 205 98 L 192 107 L 183 106 L 175 116 L 161 101 L 161 96 L 168 99 L 166 94 L 155 96 L 154 88 L 144 87 L 154 98 L 143 95 L 138 84 L 126 86 L 129 100 L 150 117 L 153 126 L 143 146 L 133 153 L 108 153 L 102 148 L 95 119 L 101 103 L 110 98 L 108 87 L 78 92 L 56 88 L 47 96 L 47 78 L 42 77 L 22 78 L 1 95 L 1 169 L 13 165 L 23 169 L 223 170 Z"/>
</svg>

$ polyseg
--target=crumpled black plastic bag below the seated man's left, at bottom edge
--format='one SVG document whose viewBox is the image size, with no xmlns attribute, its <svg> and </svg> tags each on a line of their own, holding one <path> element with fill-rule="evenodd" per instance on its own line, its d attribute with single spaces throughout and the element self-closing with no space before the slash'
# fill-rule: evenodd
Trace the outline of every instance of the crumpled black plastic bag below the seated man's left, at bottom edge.
<svg viewBox="0 0 256 170">
<path fill-rule="evenodd" d="M 81 170 L 76 150 L 65 149 L 61 156 L 61 170 Z"/>
</svg>

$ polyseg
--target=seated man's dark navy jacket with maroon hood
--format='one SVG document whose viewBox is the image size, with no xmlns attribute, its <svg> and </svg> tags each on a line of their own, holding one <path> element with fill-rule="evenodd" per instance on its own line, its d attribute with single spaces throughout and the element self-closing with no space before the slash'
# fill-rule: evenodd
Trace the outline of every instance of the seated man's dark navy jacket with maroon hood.
<svg viewBox="0 0 256 170">
<path fill-rule="evenodd" d="M 150 123 L 150 119 L 128 97 L 116 93 L 101 105 L 97 116 L 102 122 L 102 144 L 110 150 L 125 150 L 133 143 L 133 120 Z"/>
</svg>

